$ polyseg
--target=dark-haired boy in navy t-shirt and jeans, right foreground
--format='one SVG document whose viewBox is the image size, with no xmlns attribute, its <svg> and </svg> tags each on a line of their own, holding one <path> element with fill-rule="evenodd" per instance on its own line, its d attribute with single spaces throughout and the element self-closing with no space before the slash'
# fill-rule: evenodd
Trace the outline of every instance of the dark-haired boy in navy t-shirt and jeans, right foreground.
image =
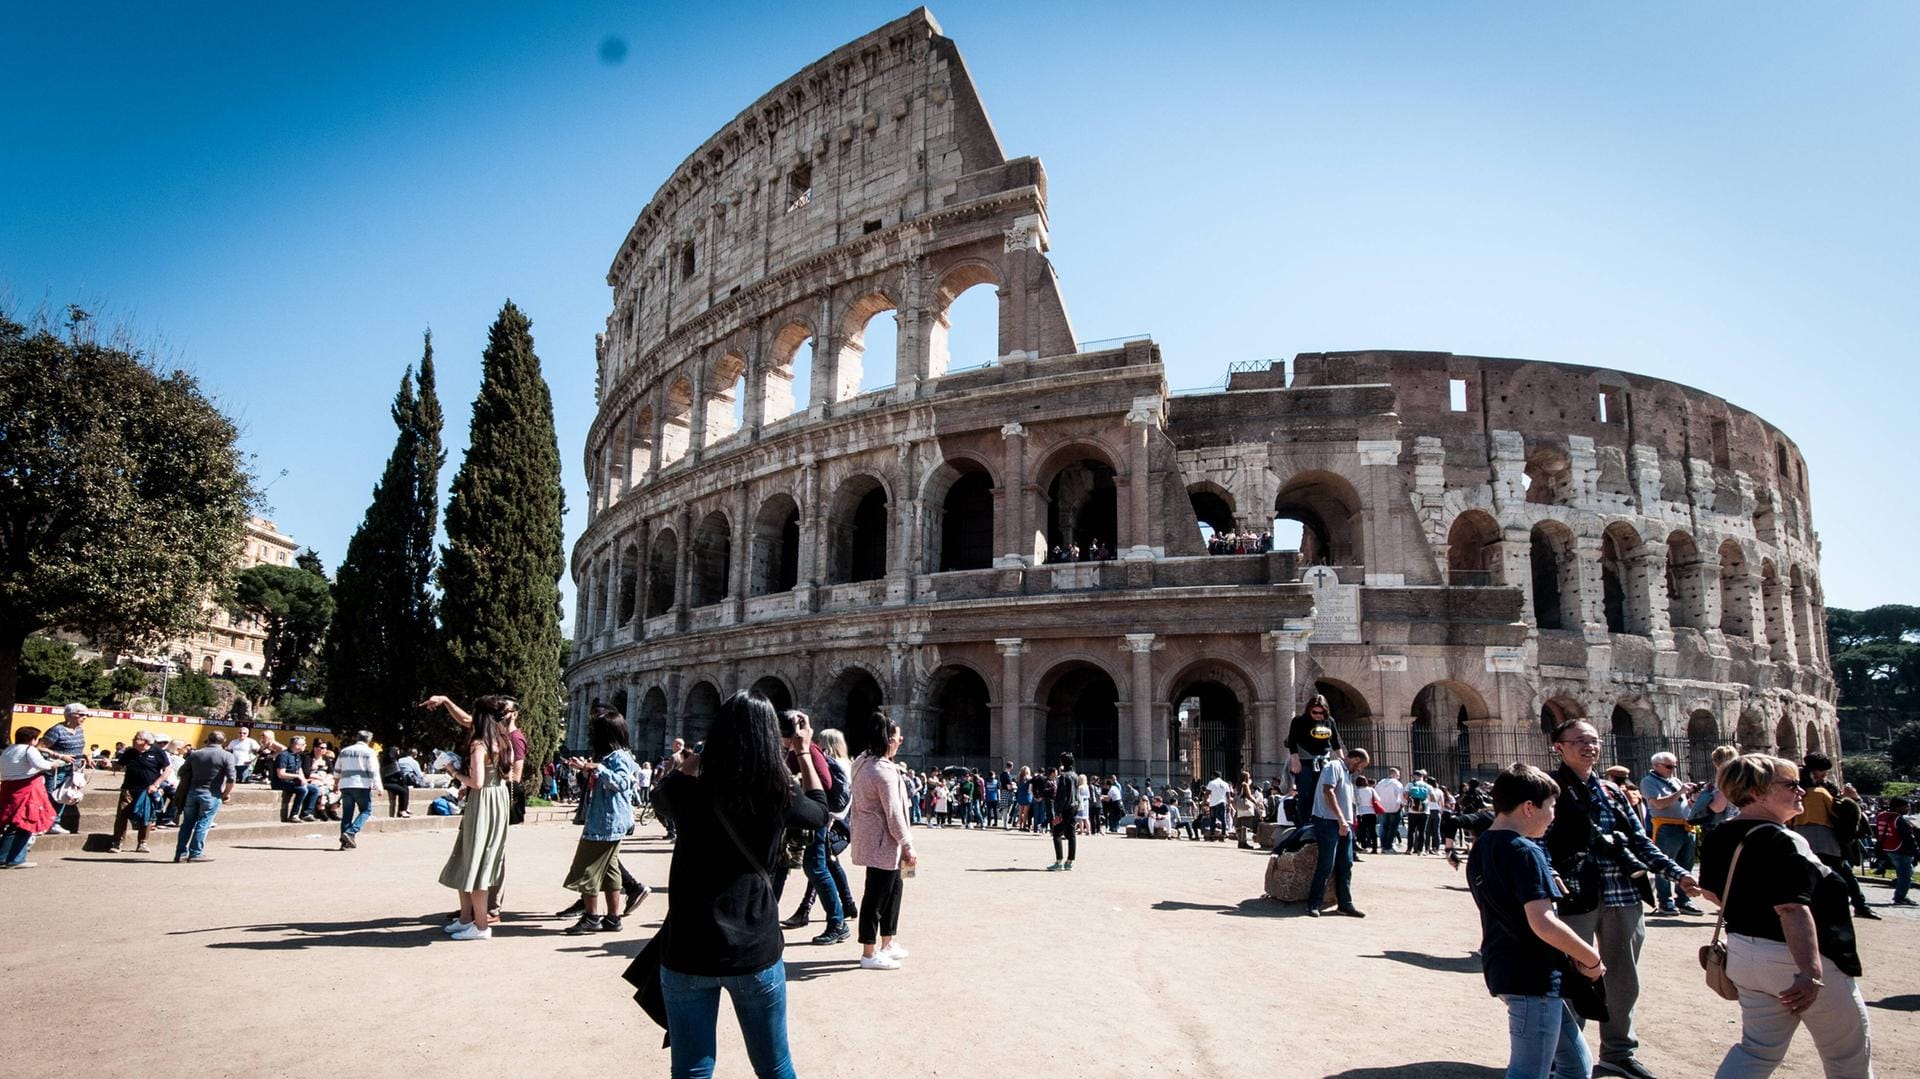
<svg viewBox="0 0 1920 1079">
<path fill-rule="evenodd" d="M 1494 779 L 1494 824 L 1467 856 L 1467 887 L 1480 908 L 1486 991 L 1507 1004 L 1507 1075 L 1586 1077 L 1594 1058 L 1580 1018 L 1561 996 L 1572 977 L 1599 977 L 1599 952 L 1553 914 L 1559 881 L 1538 839 L 1553 824 L 1559 783 L 1530 764 Z"/>
</svg>

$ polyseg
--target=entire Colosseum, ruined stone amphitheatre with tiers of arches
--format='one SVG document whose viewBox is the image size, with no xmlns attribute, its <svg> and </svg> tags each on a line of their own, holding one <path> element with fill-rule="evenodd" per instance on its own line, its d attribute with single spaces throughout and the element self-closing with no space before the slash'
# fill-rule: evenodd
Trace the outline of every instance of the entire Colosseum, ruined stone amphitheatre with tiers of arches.
<svg viewBox="0 0 1920 1079">
<path fill-rule="evenodd" d="M 1448 779 L 1563 716 L 1636 772 L 1837 745 L 1807 467 L 1761 417 L 1442 351 L 1169 394 L 1152 340 L 1075 342 L 1046 255 L 1046 173 L 925 10 L 695 150 L 607 273 L 570 716 L 659 751 L 758 689 L 885 708 L 922 766 L 1162 779 L 1283 774 L 1313 693 Z M 996 355 L 948 357 L 975 288 Z"/>
</svg>

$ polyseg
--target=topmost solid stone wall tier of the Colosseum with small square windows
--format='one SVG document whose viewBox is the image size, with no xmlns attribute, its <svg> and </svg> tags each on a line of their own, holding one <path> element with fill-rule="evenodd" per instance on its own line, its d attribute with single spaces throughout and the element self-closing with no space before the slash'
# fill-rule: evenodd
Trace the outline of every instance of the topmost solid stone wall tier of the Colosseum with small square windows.
<svg viewBox="0 0 1920 1079">
<path fill-rule="evenodd" d="M 960 52 L 914 10 L 768 90 L 660 184 L 607 273 L 609 344 L 645 355 L 783 267 L 1035 182 L 1037 169 L 1002 165 Z"/>
</svg>

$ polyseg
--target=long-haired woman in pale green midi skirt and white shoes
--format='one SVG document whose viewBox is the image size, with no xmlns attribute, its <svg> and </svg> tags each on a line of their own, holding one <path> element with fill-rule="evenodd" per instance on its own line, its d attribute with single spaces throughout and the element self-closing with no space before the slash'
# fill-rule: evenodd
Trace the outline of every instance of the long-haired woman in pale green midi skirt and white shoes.
<svg viewBox="0 0 1920 1079">
<path fill-rule="evenodd" d="M 447 933 L 455 941 L 488 941 L 493 937 L 488 889 L 505 875 L 507 820 L 513 814 L 505 774 L 513 760 L 507 728 L 520 707 L 513 697 L 501 695 L 474 701 L 472 716 L 445 697 L 430 697 L 426 707 L 445 708 L 467 728 L 461 766 L 453 776 L 468 791 L 467 808 L 461 812 L 461 835 L 453 841 L 447 866 L 440 870 L 440 883 L 461 897 L 461 916 L 447 925 Z"/>
</svg>

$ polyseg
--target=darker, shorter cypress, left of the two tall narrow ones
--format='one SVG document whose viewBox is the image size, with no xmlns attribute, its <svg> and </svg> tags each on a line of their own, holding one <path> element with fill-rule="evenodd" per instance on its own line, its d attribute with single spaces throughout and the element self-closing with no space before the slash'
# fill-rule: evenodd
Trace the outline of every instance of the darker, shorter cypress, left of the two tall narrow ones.
<svg viewBox="0 0 1920 1079">
<path fill-rule="evenodd" d="M 348 541 L 334 580 L 326 635 L 326 714 L 338 730 L 367 728 L 382 741 L 413 743 L 430 731 L 419 710 L 440 666 L 434 624 L 434 530 L 440 516 L 440 397 L 434 334 L 420 355 L 419 392 L 409 367 L 394 396 L 394 453 L 372 505 Z"/>
</svg>

